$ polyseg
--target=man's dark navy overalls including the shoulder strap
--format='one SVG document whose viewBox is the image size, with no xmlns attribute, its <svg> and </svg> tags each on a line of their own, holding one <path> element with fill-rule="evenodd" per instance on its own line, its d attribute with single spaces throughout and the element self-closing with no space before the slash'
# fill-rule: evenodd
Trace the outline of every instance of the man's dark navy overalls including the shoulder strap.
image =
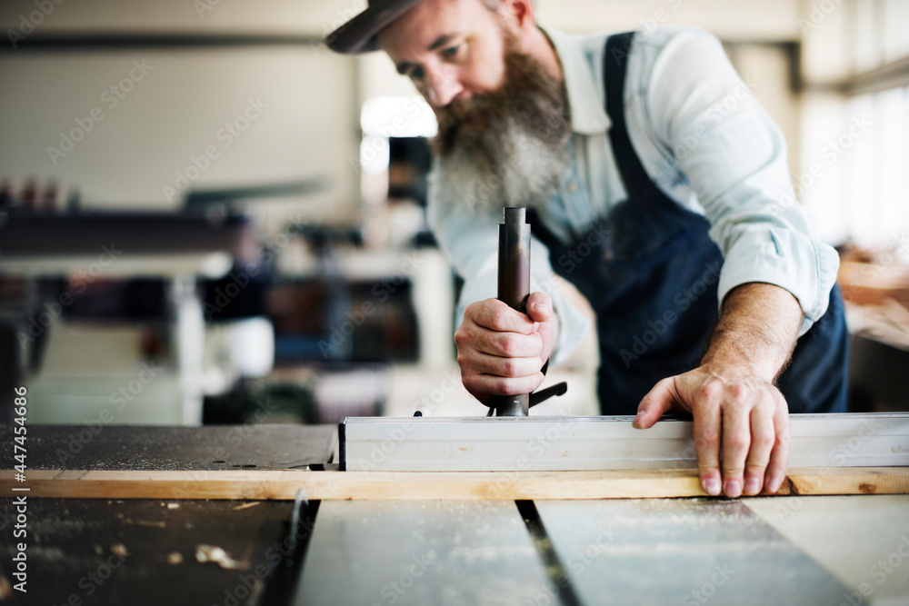
<svg viewBox="0 0 909 606">
<path fill-rule="evenodd" d="M 698 366 L 718 317 L 723 264 L 707 235 L 707 220 L 654 185 L 628 138 L 623 99 L 633 36 L 610 36 L 604 58 L 609 140 L 628 199 L 615 206 L 596 234 L 570 244 L 529 214 L 534 235 L 553 259 L 594 243 L 593 252 L 570 273 L 560 273 L 596 313 L 603 414 L 633 414 L 656 382 Z M 792 362 L 777 381 L 789 411 L 845 412 L 848 353 L 843 300 L 834 286 L 827 313 L 798 340 Z"/>
</svg>

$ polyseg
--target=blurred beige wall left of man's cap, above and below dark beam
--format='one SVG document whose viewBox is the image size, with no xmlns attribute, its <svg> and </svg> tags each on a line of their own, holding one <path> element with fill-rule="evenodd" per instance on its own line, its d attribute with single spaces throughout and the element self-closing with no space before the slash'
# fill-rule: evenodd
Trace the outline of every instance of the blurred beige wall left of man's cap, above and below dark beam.
<svg viewBox="0 0 909 606">
<path fill-rule="evenodd" d="M 323 2 L 320 9 L 313 2 L 238 5 L 225 0 L 200 17 L 192 2 L 69 0 L 45 17 L 35 13 L 34 3 L 15 1 L 0 5 L 0 24 L 4 31 L 12 27 L 30 32 L 22 25 L 25 15 L 38 23 L 35 31 L 40 34 L 317 35 L 331 25 L 334 4 Z M 151 69 L 143 75 L 134 61 Z M 0 146 L 0 175 L 17 181 L 33 174 L 42 180 L 56 178 L 64 191 L 78 187 L 86 206 L 170 208 L 182 201 L 182 194 L 171 193 L 168 200 L 165 186 L 178 184 L 176 172 L 185 175 L 189 169 L 189 176 L 195 176 L 192 157 L 214 147 L 217 157 L 192 186 L 314 176 L 329 180 L 329 192 L 271 204 L 273 211 L 280 208 L 275 224 L 300 210 L 304 216 L 322 218 L 333 212 L 350 214 L 358 203 L 357 175 L 350 163 L 360 138 L 355 61 L 323 47 L 7 50 L 0 55 L 0 73 L 15 83 L 5 85 L 0 95 L 5 142 Z M 131 74 L 141 78 L 123 80 Z M 109 88 L 121 82 L 132 90 L 119 99 Z M 239 136 L 223 130 L 236 121 L 239 127 L 245 125 L 250 99 L 267 107 L 249 110 L 260 115 L 245 131 L 238 130 Z M 91 119 L 93 110 L 100 120 Z M 49 150 L 65 149 L 62 133 L 84 134 L 64 156 Z"/>
</svg>

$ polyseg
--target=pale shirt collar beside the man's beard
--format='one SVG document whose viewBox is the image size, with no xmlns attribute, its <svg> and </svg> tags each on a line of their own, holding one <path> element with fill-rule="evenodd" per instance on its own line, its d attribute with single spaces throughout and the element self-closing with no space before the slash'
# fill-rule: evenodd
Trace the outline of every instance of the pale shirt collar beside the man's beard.
<svg viewBox="0 0 909 606">
<path fill-rule="evenodd" d="M 553 43 L 555 55 L 562 64 L 572 130 L 579 134 L 604 134 L 612 122 L 603 107 L 604 94 L 596 84 L 592 72 L 594 67 L 580 41 L 553 29 L 539 27 Z M 602 69 L 602 65 L 598 67 Z"/>
</svg>

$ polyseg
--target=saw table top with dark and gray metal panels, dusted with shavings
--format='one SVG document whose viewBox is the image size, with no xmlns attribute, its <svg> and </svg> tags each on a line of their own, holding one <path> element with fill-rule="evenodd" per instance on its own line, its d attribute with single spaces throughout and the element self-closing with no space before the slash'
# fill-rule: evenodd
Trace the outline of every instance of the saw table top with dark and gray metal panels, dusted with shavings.
<svg viewBox="0 0 909 606">
<path fill-rule="evenodd" d="M 0 440 L 12 443 L 9 427 Z M 335 426 L 32 426 L 28 470 L 199 482 L 233 470 L 328 485 L 346 473 L 330 471 L 336 441 Z M 13 469 L 11 451 L 0 469 Z M 407 477 L 402 493 L 413 496 Z M 23 596 L 10 587 L 7 495 L 28 493 L 10 486 L 0 499 L 0 602 L 10 604 L 909 603 L 904 494 L 317 501 L 311 491 L 295 503 L 33 493 Z"/>
</svg>

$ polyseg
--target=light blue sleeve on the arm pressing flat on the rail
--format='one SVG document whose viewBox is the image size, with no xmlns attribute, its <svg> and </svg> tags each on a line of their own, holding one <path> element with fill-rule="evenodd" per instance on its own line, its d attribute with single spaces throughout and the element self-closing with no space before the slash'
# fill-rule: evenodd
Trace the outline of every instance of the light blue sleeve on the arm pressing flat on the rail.
<svg viewBox="0 0 909 606">
<path fill-rule="evenodd" d="M 719 303 L 744 283 L 780 286 L 802 307 L 801 335 L 826 312 L 839 258 L 796 201 L 784 137 L 752 86 L 714 36 L 685 29 L 654 62 L 646 111 L 724 255 Z"/>
</svg>

